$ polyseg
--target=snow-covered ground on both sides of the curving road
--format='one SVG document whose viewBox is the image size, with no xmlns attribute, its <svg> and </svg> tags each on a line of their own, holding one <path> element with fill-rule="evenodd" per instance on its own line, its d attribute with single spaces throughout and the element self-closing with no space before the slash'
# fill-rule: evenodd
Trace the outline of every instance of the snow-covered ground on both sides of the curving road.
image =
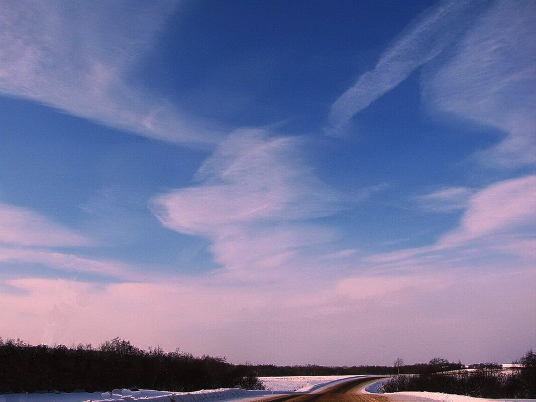
<svg viewBox="0 0 536 402">
<path fill-rule="evenodd" d="M 260 377 L 266 390 L 247 391 L 243 389 L 200 390 L 196 392 L 169 392 L 140 390 L 129 391 L 116 389 L 113 392 L 44 392 L 44 393 L 7 393 L 0 394 L 0 402 L 254 402 L 267 395 L 280 393 L 306 393 L 322 390 L 348 378 L 361 376 L 295 376 L 295 377 Z M 377 383 L 376 383 L 377 384 Z M 366 391 L 375 392 L 377 386 L 370 385 Z M 441 402 L 536 402 L 536 399 L 482 399 L 438 392 L 393 392 L 382 395 L 397 397 L 433 399 Z M 425 399 L 426 400 L 426 399 Z"/>
</svg>

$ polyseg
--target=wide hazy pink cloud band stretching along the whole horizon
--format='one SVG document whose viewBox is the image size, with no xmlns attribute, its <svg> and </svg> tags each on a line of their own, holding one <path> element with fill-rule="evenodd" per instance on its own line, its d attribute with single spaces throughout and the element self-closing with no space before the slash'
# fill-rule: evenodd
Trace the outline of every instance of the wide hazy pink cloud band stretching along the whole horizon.
<svg viewBox="0 0 536 402">
<path fill-rule="evenodd" d="M 531 271 L 366 275 L 334 283 L 304 275 L 253 287 L 210 278 L 8 284 L 24 292 L 2 294 L 3 336 L 32 343 L 95 345 L 121 336 L 142 347 L 180 346 L 232 362 L 352 364 L 388 363 L 402 344 L 408 361 L 437 353 L 511 360 L 536 340 L 534 311 L 518 308 L 532 305 Z M 490 305 L 496 306 L 492 313 Z M 497 331 L 509 336 L 497 337 Z M 460 332 L 464 344 L 451 346 Z M 355 347 L 343 353 L 341 344 Z"/>
</svg>

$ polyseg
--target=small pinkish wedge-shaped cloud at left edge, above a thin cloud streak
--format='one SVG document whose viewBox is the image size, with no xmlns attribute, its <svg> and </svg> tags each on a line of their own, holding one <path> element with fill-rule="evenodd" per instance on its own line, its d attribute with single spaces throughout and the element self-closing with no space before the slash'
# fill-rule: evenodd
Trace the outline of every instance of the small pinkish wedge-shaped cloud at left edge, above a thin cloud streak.
<svg viewBox="0 0 536 402">
<path fill-rule="evenodd" d="M 27 208 L 0 204 L 0 242 L 19 246 L 75 247 L 93 241 Z"/>
</svg>

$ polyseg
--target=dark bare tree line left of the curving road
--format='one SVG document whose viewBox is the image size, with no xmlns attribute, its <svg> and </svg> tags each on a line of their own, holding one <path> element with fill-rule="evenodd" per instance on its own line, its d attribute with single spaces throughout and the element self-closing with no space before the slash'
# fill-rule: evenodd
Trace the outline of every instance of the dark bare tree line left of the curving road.
<svg viewBox="0 0 536 402">
<path fill-rule="evenodd" d="M 142 350 L 114 338 L 98 347 L 32 346 L 0 338 L 0 392 L 57 390 L 72 392 L 143 388 L 177 392 L 200 389 L 263 389 L 249 366 L 225 358 L 195 357 L 160 347 Z"/>
</svg>

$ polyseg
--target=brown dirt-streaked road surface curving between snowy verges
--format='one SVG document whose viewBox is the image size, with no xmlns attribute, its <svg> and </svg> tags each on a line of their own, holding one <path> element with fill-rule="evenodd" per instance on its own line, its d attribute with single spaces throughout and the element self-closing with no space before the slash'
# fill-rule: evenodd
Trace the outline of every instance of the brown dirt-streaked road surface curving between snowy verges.
<svg viewBox="0 0 536 402">
<path fill-rule="evenodd" d="M 408 398 L 376 395 L 364 392 L 370 383 L 384 377 L 365 377 L 345 381 L 322 391 L 304 393 L 301 395 L 279 395 L 263 398 L 256 402 L 426 402 L 427 398 Z"/>
</svg>

